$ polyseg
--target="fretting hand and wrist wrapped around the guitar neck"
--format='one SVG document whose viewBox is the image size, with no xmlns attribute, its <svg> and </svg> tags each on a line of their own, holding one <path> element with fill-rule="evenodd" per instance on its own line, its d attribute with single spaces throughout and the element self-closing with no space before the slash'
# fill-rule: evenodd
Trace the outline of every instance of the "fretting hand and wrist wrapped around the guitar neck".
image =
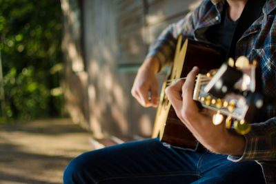
<svg viewBox="0 0 276 184">
<path fill-rule="evenodd" d="M 198 68 L 188 74 L 186 81 L 177 81 L 166 88 L 166 95 L 179 119 L 188 127 L 195 138 L 208 150 L 219 154 L 242 155 L 244 136 L 230 133 L 224 123 L 213 124 L 213 110 L 199 111 L 193 101 L 193 90 Z"/>
</svg>

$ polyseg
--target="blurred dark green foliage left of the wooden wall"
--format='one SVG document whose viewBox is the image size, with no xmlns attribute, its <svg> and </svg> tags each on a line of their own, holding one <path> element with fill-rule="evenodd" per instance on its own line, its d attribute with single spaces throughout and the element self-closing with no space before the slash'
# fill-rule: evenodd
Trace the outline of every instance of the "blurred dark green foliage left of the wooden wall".
<svg viewBox="0 0 276 184">
<path fill-rule="evenodd" d="M 50 95 L 60 78 L 59 73 L 50 73 L 61 63 L 60 1 L 0 0 L 0 7 L 6 116 L 20 120 L 60 116 L 62 98 Z"/>
</svg>

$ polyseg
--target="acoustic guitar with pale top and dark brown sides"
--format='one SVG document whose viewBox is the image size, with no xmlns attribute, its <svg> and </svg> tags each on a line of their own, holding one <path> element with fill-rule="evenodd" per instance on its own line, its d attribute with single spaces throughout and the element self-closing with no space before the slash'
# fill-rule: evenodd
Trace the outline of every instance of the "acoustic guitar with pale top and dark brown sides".
<svg viewBox="0 0 276 184">
<path fill-rule="evenodd" d="M 172 68 L 161 88 L 152 138 L 159 136 L 160 141 L 179 147 L 195 149 L 197 146 L 197 140 L 178 119 L 164 92 L 172 81 L 187 76 L 194 66 L 199 67 L 199 75 L 193 99 L 199 103 L 199 107 L 218 112 L 213 117 L 214 123 L 216 121 L 221 123 L 224 116 L 228 116 L 226 127 L 229 129 L 235 127 L 239 134 L 250 131 L 250 125 L 246 122 L 251 121 L 250 114 L 256 106 L 258 108 L 262 106 L 261 97 L 258 96 L 259 101 L 256 100 L 256 96 L 252 97 L 257 86 L 255 83 L 257 66 L 248 63 L 246 67 L 241 67 L 242 70 L 237 70 L 227 64 L 221 65 L 221 59 L 219 47 L 191 39 L 186 39 L 183 43 L 179 37 Z M 239 61 L 249 62 L 244 57 Z"/>
</svg>

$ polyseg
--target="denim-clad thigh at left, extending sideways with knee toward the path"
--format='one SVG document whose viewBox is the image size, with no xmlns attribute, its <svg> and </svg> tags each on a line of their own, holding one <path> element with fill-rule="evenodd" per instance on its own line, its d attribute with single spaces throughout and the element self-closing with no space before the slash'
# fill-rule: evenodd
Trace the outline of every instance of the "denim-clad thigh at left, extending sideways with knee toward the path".
<svg viewBox="0 0 276 184">
<path fill-rule="evenodd" d="M 158 139 L 86 152 L 66 168 L 64 183 L 191 183 L 201 154 L 165 147 Z"/>
</svg>

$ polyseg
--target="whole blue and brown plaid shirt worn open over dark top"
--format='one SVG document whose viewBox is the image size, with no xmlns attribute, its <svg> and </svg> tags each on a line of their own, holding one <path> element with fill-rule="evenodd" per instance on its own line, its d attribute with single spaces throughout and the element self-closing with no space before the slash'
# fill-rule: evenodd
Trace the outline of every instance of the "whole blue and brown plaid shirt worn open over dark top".
<svg viewBox="0 0 276 184">
<path fill-rule="evenodd" d="M 169 25 L 150 45 L 147 57 L 157 57 L 160 70 L 173 59 L 177 36 L 206 40 L 204 34 L 211 26 L 220 23 L 225 1 L 214 4 L 204 0 L 184 19 Z M 250 61 L 259 59 L 262 68 L 262 92 L 276 99 L 276 1 L 267 0 L 262 14 L 237 42 L 236 56 L 246 56 Z M 242 156 L 229 155 L 231 161 L 255 160 L 262 165 L 267 183 L 276 183 L 276 106 L 262 110 L 262 123 L 253 123 L 245 135 L 246 147 Z"/>
</svg>

